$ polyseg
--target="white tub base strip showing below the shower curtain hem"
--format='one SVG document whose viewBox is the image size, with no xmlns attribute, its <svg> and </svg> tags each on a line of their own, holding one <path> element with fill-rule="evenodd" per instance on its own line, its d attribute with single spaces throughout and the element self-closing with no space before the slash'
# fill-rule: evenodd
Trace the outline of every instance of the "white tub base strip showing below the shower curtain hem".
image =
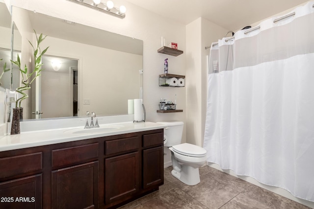
<svg viewBox="0 0 314 209">
<path fill-rule="evenodd" d="M 235 172 L 233 170 L 223 170 L 220 168 L 220 166 L 218 164 L 215 164 L 215 163 L 207 163 L 208 166 L 212 167 L 212 168 L 215 168 L 217 170 L 220 170 L 220 171 L 223 171 L 225 173 L 228 173 L 232 176 L 235 176 L 236 178 L 239 178 L 239 179 L 242 179 L 246 182 L 249 182 L 253 185 L 256 185 L 256 186 L 260 186 L 264 189 L 267 189 L 271 192 L 274 192 L 276 194 L 279 194 L 281 196 L 284 196 L 290 200 L 293 200 L 295 202 L 298 202 L 298 203 L 301 203 L 302 205 L 305 205 L 305 206 L 308 206 L 310 208 L 313 208 L 314 209 L 314 202 L 311 202 L 311 201 L 307 201 L 307 200 L 303 200 L 303 199 L 300 199 L 300 198 L 297 198 L 297 197 L 294 197 L 290 192 L 288 192 L 286 189 L 283 189 L 283 188 L 280 188 L 280 187 L 276 187 L 276 186 L 268 186 L 268 185 L 264 185 L 260 182 L 258 182 L 256 179 L 252 178 L 252 177 L 249 177 L 249 176 L 238 176 L 235 174 Z"/>
</svg>

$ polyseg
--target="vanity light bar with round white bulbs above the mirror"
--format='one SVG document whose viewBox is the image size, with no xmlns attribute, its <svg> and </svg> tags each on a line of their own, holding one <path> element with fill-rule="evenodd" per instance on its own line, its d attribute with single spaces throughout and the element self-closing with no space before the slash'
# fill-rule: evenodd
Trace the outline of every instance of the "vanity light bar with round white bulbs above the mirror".
<svg viewBox="0 0 314 209">
<path fill-rule="evenodd" d="M 114 7 L 113 2 L 108 0 L 106 3 L 103 3 L 101 0 L 68 0 L 74 3 L 78 3 L 83 6 L 87 6 L 91 9 L 95 9 L 100 12 L 104 12 L 108 15 L 112 15 L 117 18 L 125 18 L 126 17 L 126 7 L 120 6 L 120 8 Z"/>
</svg>

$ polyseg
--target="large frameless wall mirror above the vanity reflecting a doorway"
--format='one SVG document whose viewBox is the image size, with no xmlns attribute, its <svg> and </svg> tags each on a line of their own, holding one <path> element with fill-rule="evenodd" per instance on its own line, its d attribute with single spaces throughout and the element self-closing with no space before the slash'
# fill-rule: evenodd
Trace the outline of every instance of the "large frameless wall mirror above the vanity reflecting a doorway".
<svg viewBox="0 0 314 209">
<path fill-rule="evenodd" d="M 33 30 L 47 35 L 41 48 L 49 46 L 28 105 L 22 102 L 24 119 L 123 115 L 128 99 L 142 98 L 143 41 L 17 7 L 12 14 L 22 63 L 31 57 Z"/>
</svg>

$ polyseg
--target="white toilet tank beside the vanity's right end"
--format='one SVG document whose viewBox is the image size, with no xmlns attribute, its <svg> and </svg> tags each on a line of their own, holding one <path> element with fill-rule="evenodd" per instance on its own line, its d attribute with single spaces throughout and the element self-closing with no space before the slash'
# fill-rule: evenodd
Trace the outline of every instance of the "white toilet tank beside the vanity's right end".
<svg viewBox="0 0 314 209">
<path fill-rule="evenodd" d="M 181 144 L 183 134 L 183 122 L 182 121 L 161 121 L 157 122 L 163 125 L 167 125 L 164 128 L 164 146 L 171 147 L 173 145 Z"/>
</svg>

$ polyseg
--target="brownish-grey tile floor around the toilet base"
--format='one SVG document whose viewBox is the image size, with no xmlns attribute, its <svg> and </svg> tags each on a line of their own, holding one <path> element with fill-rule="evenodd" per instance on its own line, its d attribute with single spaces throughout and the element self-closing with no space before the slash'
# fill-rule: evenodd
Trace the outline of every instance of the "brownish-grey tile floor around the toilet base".
<svg viewBox="0 0 314 209">
<path fill-rule="evenodd" d="M 159 190 L 120 209 L 310 209 L 234 176 L 204 166 L 201 183 L 188 186 L 164 169 Z"/>
</svg>

